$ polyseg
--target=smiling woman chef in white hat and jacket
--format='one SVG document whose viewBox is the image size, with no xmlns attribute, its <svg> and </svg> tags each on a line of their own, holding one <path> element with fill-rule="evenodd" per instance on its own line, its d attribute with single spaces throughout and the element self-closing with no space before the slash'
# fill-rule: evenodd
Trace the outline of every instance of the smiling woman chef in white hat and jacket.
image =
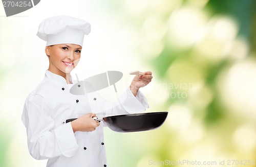
<svg viewBox="0 0 256 167">
<path fill-rule="evenodd" d="M 84 34 L 90 31 L 89 22 L 69 16 L 48 18 L 38 29 L 37 36 L 47 41 L 49 68 L 26 99 L 22 121 L 27 128 L 30 154 L 35 159 L 49 159 L 47 166 L 107 166 L 103 124 L 92 117 L 148 108 L 139 88 L 151 82 L 151 71 L 133 79 L 130 89 L 120 97 L 120 104 L 110 104 L 95 92 L 85 96 L 70 93 L 74 84 L 70 72 L 79 62 Z M 74 117 L 79 118 L 63 124 Z"/>
</svg>

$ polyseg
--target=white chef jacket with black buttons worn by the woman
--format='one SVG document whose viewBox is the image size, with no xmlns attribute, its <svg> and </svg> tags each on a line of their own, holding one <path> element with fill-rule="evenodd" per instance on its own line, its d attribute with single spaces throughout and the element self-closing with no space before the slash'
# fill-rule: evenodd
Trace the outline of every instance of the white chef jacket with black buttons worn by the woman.
<svg viewBox="0 0 256 167">
<path fill-rule="evenodd" d="M 35 159 L 49 159 L 48 167 L 107 166 L 103 122 L 92 132 L 73 132 L 69 118 L 96 113 L 99 118 L 138 113 L 148 108 L 143 94 L 134 97 L 127 89 L 119 103 L 103 100 L 96 92 L 84 96 L 69 92 L 67 81 L 46 71 L 44 80 L 26 99 L 22 114 L 27 128 L 29 152 Z"/>
</svg>

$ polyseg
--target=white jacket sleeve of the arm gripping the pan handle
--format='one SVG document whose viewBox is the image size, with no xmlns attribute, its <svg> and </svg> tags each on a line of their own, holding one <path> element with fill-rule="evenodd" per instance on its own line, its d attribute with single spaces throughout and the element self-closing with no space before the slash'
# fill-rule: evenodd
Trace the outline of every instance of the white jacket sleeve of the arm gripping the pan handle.
<svg viewBox="0 0 256 167">
<path fill-rule="evenodd" d="M 27 128 L 28 148 L 35 159 L 48 159 L 63 155 L 73 156 L 78 145 L 71 124 L 54 129 L 49 102 L 39 95 L 30 95 L 25 103 L 22 121 Z"/>
</svg>

